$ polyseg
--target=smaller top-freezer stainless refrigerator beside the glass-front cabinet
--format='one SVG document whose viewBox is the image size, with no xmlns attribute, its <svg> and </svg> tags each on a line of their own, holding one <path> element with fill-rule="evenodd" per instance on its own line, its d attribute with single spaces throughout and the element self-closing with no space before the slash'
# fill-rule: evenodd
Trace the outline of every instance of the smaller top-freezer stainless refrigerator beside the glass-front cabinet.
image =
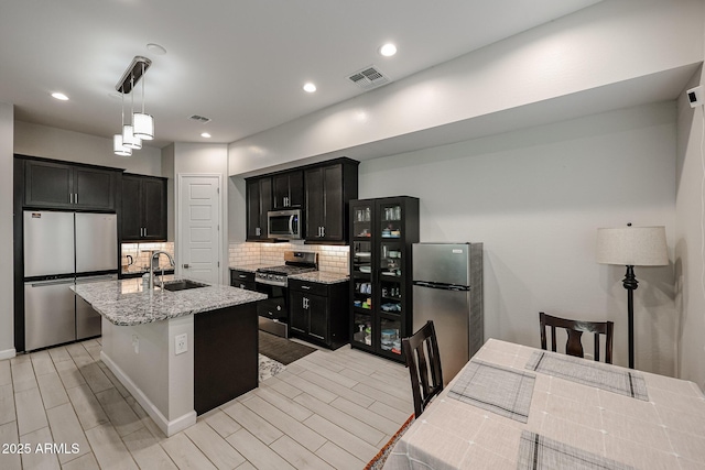
<svg viewBox="0 0 705 470">
<path fill-rule="evenodd" d="M 447 384 L 482 346 L 482 243 L 414 243 L 413 330 L 433 320 Z"/>
</svg>

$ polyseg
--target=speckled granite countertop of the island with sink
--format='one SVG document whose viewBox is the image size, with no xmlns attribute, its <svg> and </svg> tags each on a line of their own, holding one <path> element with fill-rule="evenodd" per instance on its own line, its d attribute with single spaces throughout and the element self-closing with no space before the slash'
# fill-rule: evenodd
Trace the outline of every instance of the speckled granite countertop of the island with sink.
<svg viewBox="0 0 705 470">
<path fill-rule="evenodd" d="M 165 276 L 169 282 L 170 277 Z M 158 284 L 159 285 L 159 284 Z M 70 287 L 113 325 L 130 326 L 262 300 L 267 295 L 227 285 L 170 292 L 143 291 L 141 278 L 77 284 Z"/>
</svg>

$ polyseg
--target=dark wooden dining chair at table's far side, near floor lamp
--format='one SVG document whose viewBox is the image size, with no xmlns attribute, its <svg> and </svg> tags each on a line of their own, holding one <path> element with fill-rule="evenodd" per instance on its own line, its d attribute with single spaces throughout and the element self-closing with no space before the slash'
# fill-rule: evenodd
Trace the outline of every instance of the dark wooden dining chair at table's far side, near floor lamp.
<svg viewBox="0 0 705 470">
<path fill-rule="evenodd" d="M 571 320 L 566 318 L 553 317 L 551 315 L 539 313 L 541 323 L 541 349 L 546 350 L 546 327 L 551 327 L 551 350 L 556 351 L 555 329 L 565 328 L 568 339 L 565 343 L 565 353 L 583 358 L 583 332 L 592 332 L 595 335 L 595 360 L 599 361 L 599 337 L 605 335 L 605 362 L 612 363 L 612 336 L 615 324 L 612 321 L 582 321 Z"/>
</svg>

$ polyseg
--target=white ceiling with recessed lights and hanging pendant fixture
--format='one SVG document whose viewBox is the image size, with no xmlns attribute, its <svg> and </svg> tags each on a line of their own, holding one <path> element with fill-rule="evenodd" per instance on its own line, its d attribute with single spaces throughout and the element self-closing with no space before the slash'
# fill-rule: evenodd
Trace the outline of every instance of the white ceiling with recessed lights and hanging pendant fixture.
<svg viewBox="0 0 705 470">
<path fill-rule="evenodd" d="M 598 1 L 3 1 L 0 101 L 15 106 L 19 121 L 110 138 L 120 129 L 115 86 L 143 55 L 153 62 L 152 145 L 229 143 L 362 94 L 347 77 L 368 65 L 399 80 Z M 388 41 L 394 57 L 377 53 Z M 318 91 L 304 92 L 305 81 Z M 139 108 L 141 84 L 137 91 Z"/>
</svg>

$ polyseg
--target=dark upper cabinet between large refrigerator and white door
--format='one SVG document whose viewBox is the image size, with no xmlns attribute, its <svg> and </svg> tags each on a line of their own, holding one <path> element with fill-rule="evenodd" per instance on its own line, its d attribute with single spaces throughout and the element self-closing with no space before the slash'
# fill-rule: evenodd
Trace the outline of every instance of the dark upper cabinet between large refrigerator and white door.
<svg viewBox="0 0 705 470">
<path fill-rule="evenodd" d="M 122 175 L 122 241 L 166 240 L 166 178 Z"/>
</svg>

